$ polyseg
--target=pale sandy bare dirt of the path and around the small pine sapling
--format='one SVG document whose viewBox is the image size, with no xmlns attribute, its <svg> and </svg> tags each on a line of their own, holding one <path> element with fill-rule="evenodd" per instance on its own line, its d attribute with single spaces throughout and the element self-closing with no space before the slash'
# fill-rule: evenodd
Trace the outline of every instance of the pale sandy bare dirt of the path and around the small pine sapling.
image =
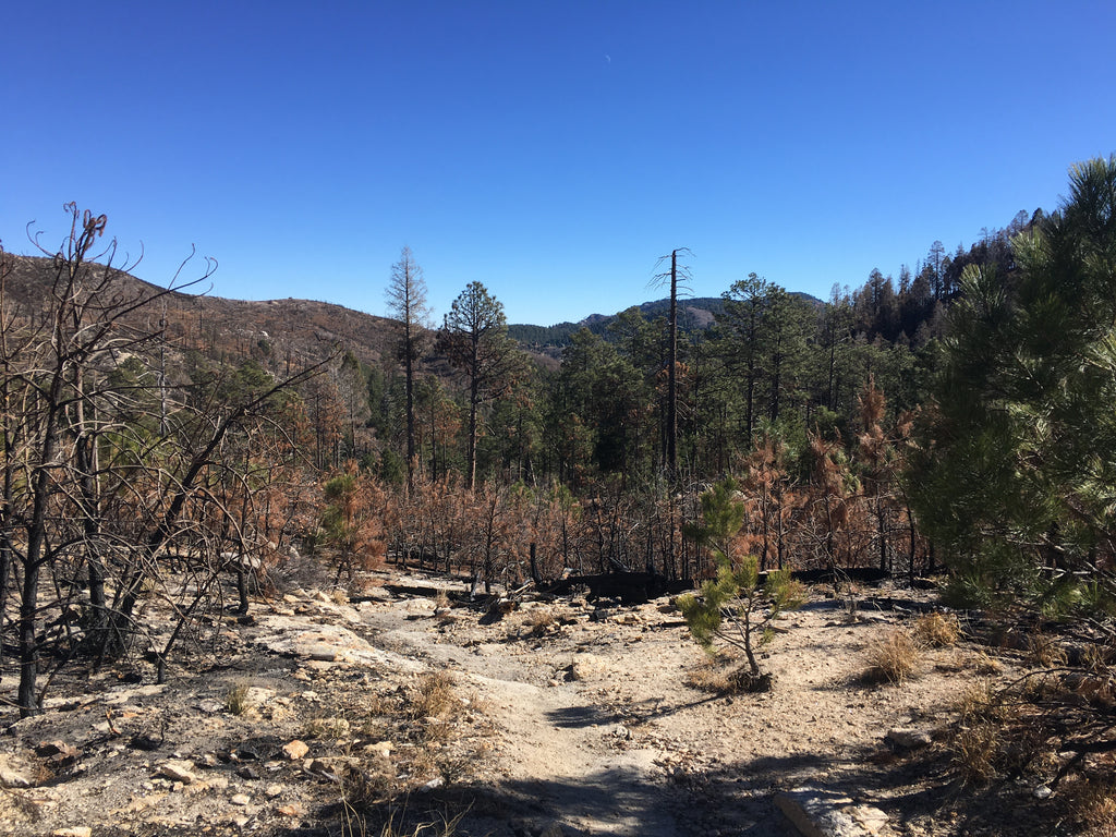
<svg viewBox="0 0 1116 837">
<path fill-rule="evenodd" d="M 889 729 L 945 723 L 975 676 L 972 650 L 929 653 L 902 687 L 864 684 L 868 648 L 904 615 L 852 619 L 816 596 L 764 652 L 775 690 L 725 698 L 687 683 L 705 658 L 665 602 L 593 620 L 581 602 L 556 603 L 561 625 L 541 637 L 530 634 L 535 607 L 548 606 L 489 625 L 414 602 L 363 614 L 371 641 L 454 672 L 496 725 L 472 787 L 491 789 L 514 821 L 468 834 L 540 837 L 557 822 L 567 837 L 786 837 L 797 833 L 773 799 L 802 785 L 888 809 L 881 835 L 950 833 L 917 777 L 885 782 L 874 764 L 891 758 Z"/>
</svg>

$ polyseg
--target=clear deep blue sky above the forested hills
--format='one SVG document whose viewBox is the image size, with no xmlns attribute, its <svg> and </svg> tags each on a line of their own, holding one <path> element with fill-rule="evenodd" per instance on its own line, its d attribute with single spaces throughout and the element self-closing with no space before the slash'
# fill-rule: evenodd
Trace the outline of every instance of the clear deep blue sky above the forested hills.
<svg viewBox="0 0 1116 837">
<path fill-rule="evenodd" d="M 0 240 L 108 215 L 165 285 L 384 314 L 401 248 L 437 319 L 613 312 L 693 251 L 827 297 L 1052 209 L 1116 152 L 1116 3 L 266 0 L 9 3 Z"/>
</svg>

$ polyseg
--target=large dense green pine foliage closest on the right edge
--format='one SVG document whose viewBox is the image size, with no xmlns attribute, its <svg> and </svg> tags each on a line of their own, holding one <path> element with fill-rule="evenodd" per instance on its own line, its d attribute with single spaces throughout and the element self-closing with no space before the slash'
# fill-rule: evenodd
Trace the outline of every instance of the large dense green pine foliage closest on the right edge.
<svg viewBox="0 0 1116 837">
<path fill-rule="evenodd" d="M 913 500 L 959 593 L 1096 606 L 1116 593 L 1116 157 L 1012 243 L 1013 283 L 961 277 Z"/>
</svg>

